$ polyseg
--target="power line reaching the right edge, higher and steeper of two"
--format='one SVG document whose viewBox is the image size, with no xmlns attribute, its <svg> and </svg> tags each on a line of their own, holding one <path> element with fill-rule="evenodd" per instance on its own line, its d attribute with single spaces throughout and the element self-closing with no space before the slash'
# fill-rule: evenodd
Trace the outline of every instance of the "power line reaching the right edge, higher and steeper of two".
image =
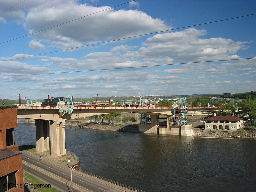
<svg viewBox="0 0 256 192">
<path fill-rule="evenodd" d="M 36 55 L 30 55 L 30 56 L 26 56 L 26 57 L 18 57 L 18 58 L 15 58 L 15 59 L 0 60 L 0 61 L 17 60 L 17 59 L 23 59 L 23 58 L 34 57 L 34 56 L 39 56 L 39 55 L 45 55 L 45 54 L 49 54 L 49 53 L 56 53 L 56 52 L 61 52 L 61 51 L 68 51 L 68 50 L 78 49 L 78 48 L 87 47 L 87 46 L 92 46 L 92 45 L 98 45 L 98 44 L 109 43 L 109 42 L 113 42 L 113 41 L 119 41 L 119 40 L 124 40 L 124 39 L 130 39 L 130 38 L 134 38 L 134 37 L 152 35 L 152 34 L 156 34 L 156 33 L 162 33 L 162 32 L 166 32 L 166 31 L 172 31 L 172 30 L 176 30 L 176 29 L 182 29 L 182 28 L 188 28 L 188 27 L 195 27 L 195 26 L 199 26 L 199 25 L 205 25 L 205 24 L 209 24 L 209 23 L 216 23 L 216 22 L 220 22 L 220 21 L 231 20 L 231 19 L 237 19 L 237 18 L 252 16 L 252 15 L 256 15 L 256 13 L 253 13 L 253 14 L 250 14 L 250 15 L 239 16 L 239 17 L 233 17 L 233 18 L 229 18 L 229 19 L 223 19 L 223 20 L 211 21 L 211 22 L 207 22 L 207 23 L 201 23 L 201 24 L 196 24 L 196 25 L 190 25 L 190 26 L 186 26 L 186 27 L 180 27 L 180 28 L 174 28 L 174 29 L 167 29 L 167 30 L 163 30 L 163 31 L 157 31 L 157 32 L 152 32 L 152 33 L 147 33 L 147 34 L 142 34 L 142 35 L 124 37 L 124 38 L 115 39 L 115 40 L 110 40 L 110 41 L 103 41 L 103 42 L 100 42 L 100 43 L 88 44 L 88 45 L 83 45 L 83 46 L 79 46 L 79 47 L 73 47 L 73 48 L 68 48 L 68 49 L 62 49 L 62 50 L 58 50 L 58 51 L 45 52 L 45 53 L 36 54 Z"/>
</svg>

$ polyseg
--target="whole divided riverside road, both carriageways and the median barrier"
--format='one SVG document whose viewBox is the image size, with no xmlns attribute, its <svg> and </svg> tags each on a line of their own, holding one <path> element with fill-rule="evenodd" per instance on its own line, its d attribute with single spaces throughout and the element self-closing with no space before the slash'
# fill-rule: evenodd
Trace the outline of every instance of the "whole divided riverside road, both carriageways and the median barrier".
<svg viewBox="0 0 256 192">
<path fill-rule="evenodd" d="M 61 191 L 71 191 L 71 170 L 40 160 L 37 156 L 22 151 L 23 169 Z M 132 192 L 132 190 L 92 177 L 76 170 L 72 171 L 74 192 Z M 141 190 L 138 190 L 141 191 Z"/>
</svg>

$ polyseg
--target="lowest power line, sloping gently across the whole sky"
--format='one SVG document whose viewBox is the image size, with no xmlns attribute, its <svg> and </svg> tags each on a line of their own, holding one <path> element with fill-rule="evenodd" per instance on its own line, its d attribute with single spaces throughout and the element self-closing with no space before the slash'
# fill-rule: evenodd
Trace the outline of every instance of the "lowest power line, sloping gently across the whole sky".
<svg viewBox="0 0 256 192">
<path fill-rule="evenodd" d="M 256 57 L 241 58 L 241 59 L 212 60 L 212 61 L 197 61 L 197 62 L 187 62 L 187 63 L 171 63 L 171 64 L 147 65 L 147 66 L 137 66 L 137 67 L 121 67 L 121 68 L 91 69 L 91 70 L 82 70 L 82 71 L 56 72 L 56 73 L 38 73 L 38 74 L 24 74 L 24 75 L 1 75 L 0 77 L 7 77 L 7 76 L 51 75 L 51 74 L 78 73 L 78 72 L 88 72 L 88 71 L 102 71 L 102 70 L 130 69 L 130 68 L 145 68 L 145 67 L 158 67 L 158 66 L 181 65 L 181 64 L 194 64 L 194 63 L 209 63 L 209 62 L 245 60 L 245 59 L 256 59 Z"/>
</svg>

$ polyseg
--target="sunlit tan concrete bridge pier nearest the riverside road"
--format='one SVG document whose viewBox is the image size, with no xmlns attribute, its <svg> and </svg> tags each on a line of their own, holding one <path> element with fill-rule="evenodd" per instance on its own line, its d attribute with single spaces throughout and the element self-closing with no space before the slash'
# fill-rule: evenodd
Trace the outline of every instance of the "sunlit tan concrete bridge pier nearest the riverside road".
<svg viewBox="0 0 256 192">
<path fill-rule="evenodd" d="M 51 156 L 58 157 L 66 154 L 65 123 L 62 118 L 55 122 L 50 121 Z"/>
</svg>

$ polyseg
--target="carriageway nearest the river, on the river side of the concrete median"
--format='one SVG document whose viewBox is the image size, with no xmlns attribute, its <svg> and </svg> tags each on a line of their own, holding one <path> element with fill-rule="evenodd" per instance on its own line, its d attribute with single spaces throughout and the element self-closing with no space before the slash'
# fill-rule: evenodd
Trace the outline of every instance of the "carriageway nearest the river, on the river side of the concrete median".
<svg viewBox="0 0 256 192">
<path fill-rule="evenodd" d="M 22 159 L 30 164 L 40 167 L 46 171 L 52 172 L 53 174 L 58 175 L 65 180 L 71 180 L 71 173 L 70 173 L 69 168 L 63 168 L 58 165 L 51 164 L 47 161 L 40 160 L 40 159 L 38 159 L 38 157 L 31 155 L 24 151 L 22 151 Z M 24 166 L 24 164 L 23 164 L 23 166 Z M 50 176 L 48 176 L 48 177 L 50 177 Z M 50 179 L 50 180 L 52 180 L 52 179 Z M 107 184 L 101 183 L 97 180 L 93 180 L 90 177 L 86 177 L 81 174 L 78 174 L 75 171 L 72 171 L 72 180 L 73 180 L 73 183 L 76 183 L 77 185 L 79 185 L 83 188 L 89 189 L 93 192 L 103 192 L 103 191 L 107 191 L 107 192 L 127 191 L 128 192 L 128 191 L 130 191 L 128 189 L 120 190 L 120 189 L 114 188 Z M 68 191 L 68 190 L 66 189 L 65 191 Z"/>
</svg>

